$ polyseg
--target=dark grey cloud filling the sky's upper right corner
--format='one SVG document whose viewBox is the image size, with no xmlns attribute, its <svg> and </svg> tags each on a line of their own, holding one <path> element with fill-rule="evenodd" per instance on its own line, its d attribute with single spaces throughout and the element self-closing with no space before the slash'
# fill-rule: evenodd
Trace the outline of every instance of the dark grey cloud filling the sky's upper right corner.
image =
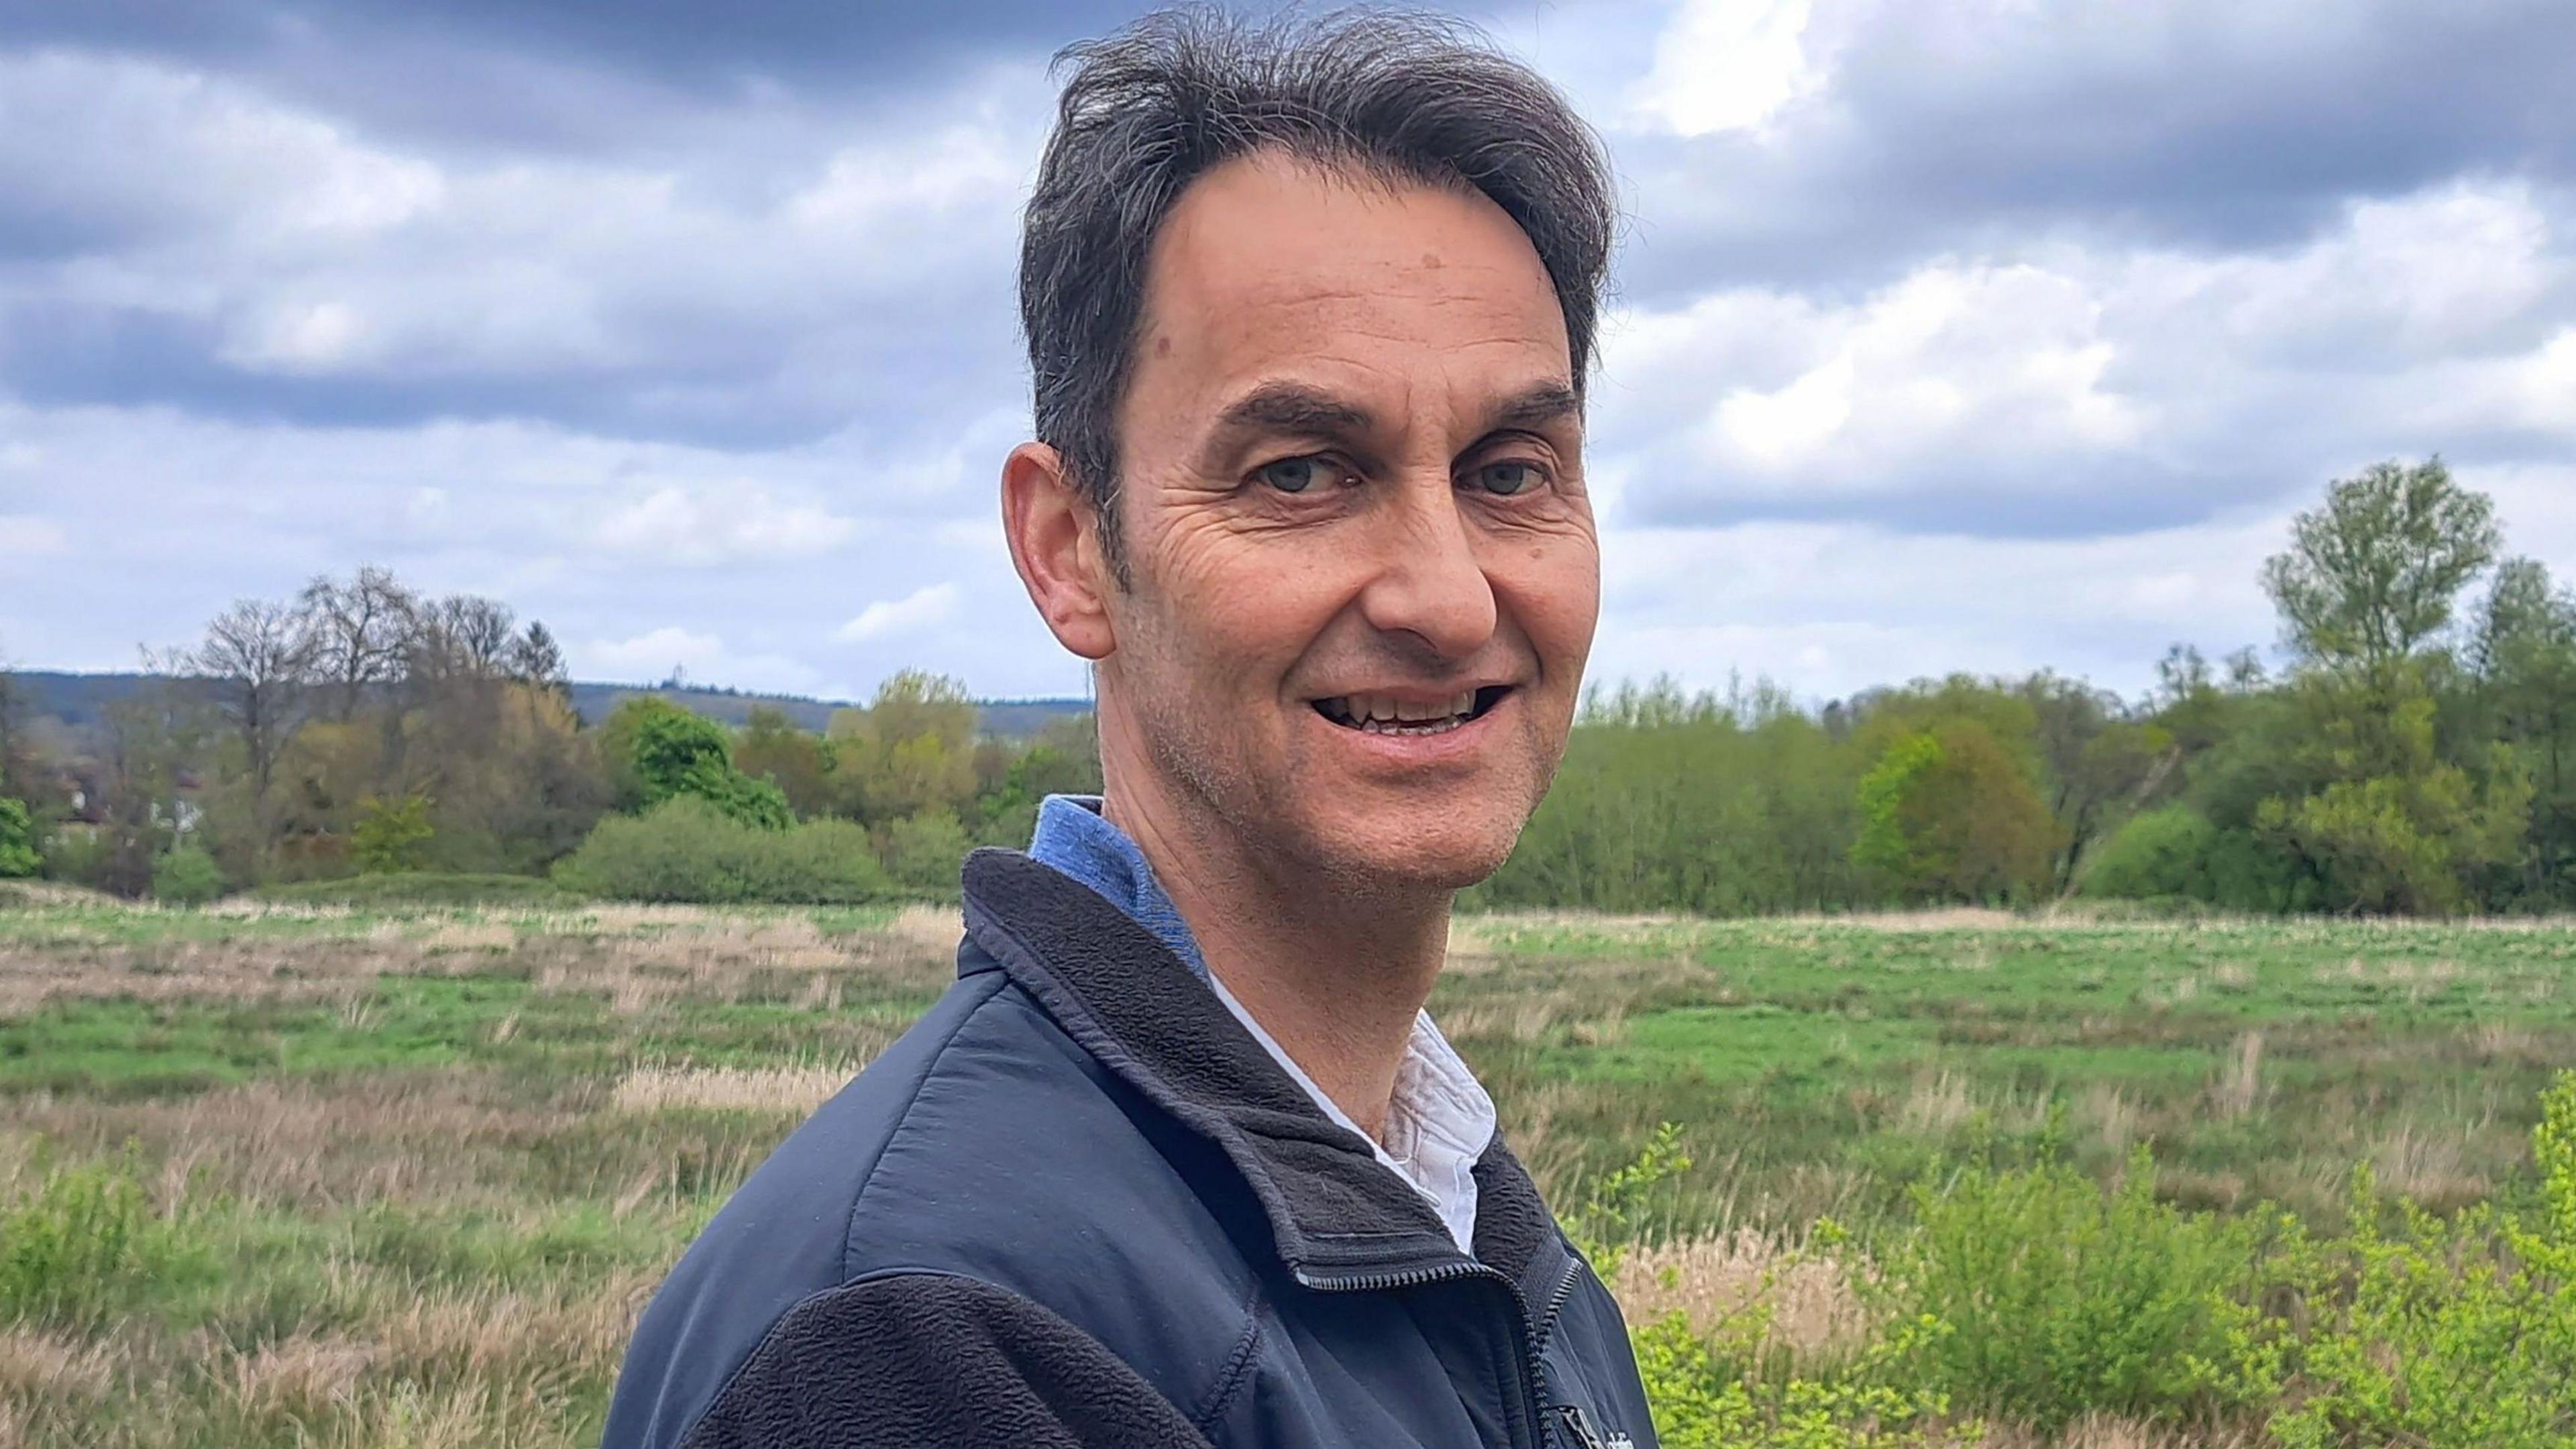
<svg viewBox="0 0 2576 1449">
<path fill-rule="evenodd" d="M 1623 134 L 1638 299 L 1868 286 L 2032 235 L 2241 250 L 2450 175 L 2576 180 L 2555 0 L 1819 5 L 1821 93 L 1762 137 Z"/>
</svg>

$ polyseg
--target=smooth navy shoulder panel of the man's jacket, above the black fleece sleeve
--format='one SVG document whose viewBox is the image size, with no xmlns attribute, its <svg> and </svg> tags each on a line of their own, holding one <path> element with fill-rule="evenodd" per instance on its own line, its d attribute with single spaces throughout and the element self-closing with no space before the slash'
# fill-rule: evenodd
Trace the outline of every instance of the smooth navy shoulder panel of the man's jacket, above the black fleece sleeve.
<svg viewBox="0 0 2576 1449">
<path fill-rule="evenodd" d="M 989 1284 L 1185 1390 L 1213 1372 L 1193 1343 L 1247 1320 L 1252 1269 L 1182 1137 L 1002 972 L 969 972 L 690 1245 L 611 1444 L 672 1444 L 773 1325 L 863 1279 Z"/>
</svg>

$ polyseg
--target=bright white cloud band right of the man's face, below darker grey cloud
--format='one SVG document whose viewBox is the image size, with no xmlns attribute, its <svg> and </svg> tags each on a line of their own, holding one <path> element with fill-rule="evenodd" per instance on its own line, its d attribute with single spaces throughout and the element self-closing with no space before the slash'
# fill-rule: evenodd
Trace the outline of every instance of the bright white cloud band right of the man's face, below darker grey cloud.
<svg viewBox="0 0 2576 1449">
<path fill-rule="evenodd" d="M 2576 425 L 2576 340 L 2532 327 L 2576 315 L 2576 258 L 2519 180 L 2354 204 L 2272 255 L 2025 250 L 1618 317 L 1597 472 L 1646 521 L 2066 534 Z"/>
</svg>

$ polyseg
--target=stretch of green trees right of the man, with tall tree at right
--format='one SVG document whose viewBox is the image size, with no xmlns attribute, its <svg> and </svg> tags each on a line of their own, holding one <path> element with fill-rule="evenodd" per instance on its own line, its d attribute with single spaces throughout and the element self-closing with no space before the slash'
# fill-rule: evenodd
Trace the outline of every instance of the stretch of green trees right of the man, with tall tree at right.
<svg viewBox="0 0 2576 1449">
<path fill-rule="evenodd" d="M 2334 482 L 2264 565 L 2287 665 L 2177 647 L 1801 709 L 1597 694 L 1489 905 L 1713 915 L 2066 895 L 2576 908 L 2576 593 L 2439 462 Z"/>
</svg>

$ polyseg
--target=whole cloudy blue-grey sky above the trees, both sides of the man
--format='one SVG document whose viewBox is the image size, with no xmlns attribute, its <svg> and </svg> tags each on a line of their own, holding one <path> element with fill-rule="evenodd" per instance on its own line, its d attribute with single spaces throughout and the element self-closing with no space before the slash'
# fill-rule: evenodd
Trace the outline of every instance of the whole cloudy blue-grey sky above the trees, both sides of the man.
<svg viewBox="0 0 2576 1449">
<path fill-rule="evenodd" d="M 1095 0 L 0 0 L 0 655 L 394 567 L 585 678 L 1077 694 L 994 526 Z M 1595 676 L 2269 645 L 2439 451 L 2576 575 L 2576 5 L 1543 0 L 1610 142 Z"/>
</svg>

